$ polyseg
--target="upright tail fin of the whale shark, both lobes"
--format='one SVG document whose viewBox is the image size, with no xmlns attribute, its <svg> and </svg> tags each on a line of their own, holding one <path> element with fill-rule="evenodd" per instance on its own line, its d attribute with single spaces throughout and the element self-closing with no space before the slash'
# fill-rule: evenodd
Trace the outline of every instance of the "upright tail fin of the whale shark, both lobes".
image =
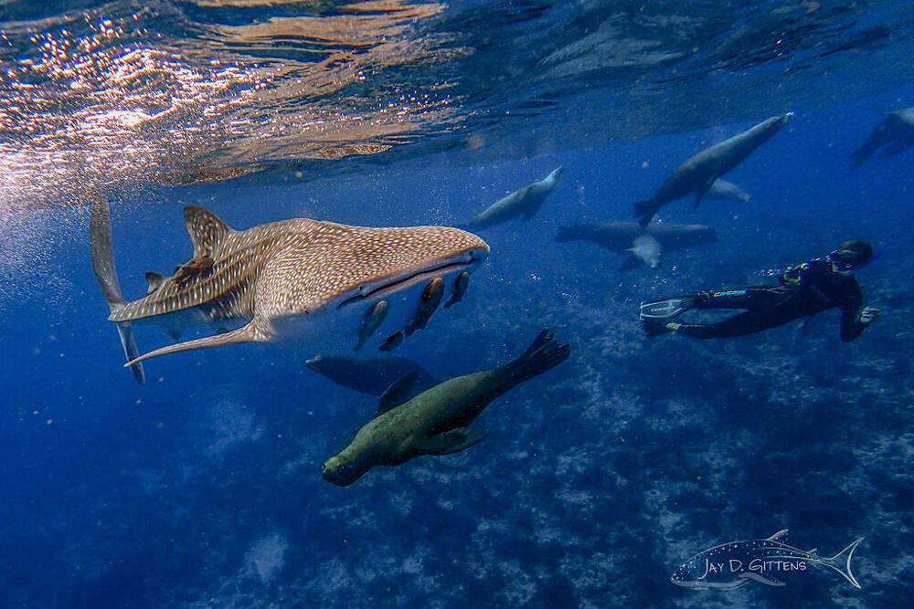
<svg viewBox="0 0 914 609">
<path fill-rule="evenodd" d="M 92 210 L 90 215 L 90 245 L 92 248 L 92 269 L 95 271 L 95 278 L 99 281 L 101 293 L 104 294 L 105 300 L 108 301 L 108 308 L 116 311 L 121 310 L 127 304 L 121 294 L 121 285 L 117 278 L 117 269 L 114 267 L 114 250 L 112 248 L 112 216 L 111 208 L 108 205 L 108 199 L 102 194 L 92 194 Z M 136 341 L 133 339 L 133 330 L 130 324 L 120 322 L 117 324 L 117 331 L 121 337 L 121 346 L 123 353 L 127 356 L 127 361 L 133 361 L 139 356 L 139 350 L 136 348 Z M 133 372 L 133 378 L 137 383 L 146 383 L 146 373 L 143 370 L 142 363 L 135 363 L 130 367 Z"/>
</svg>

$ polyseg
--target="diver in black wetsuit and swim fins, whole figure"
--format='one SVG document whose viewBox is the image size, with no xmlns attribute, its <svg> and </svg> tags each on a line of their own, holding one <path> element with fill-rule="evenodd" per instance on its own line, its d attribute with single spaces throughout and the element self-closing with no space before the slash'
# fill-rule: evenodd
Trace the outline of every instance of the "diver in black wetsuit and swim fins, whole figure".
<svg viewBox="0 0 914 609">
<path fill-rule="evenodd" d="M 837 307 L 841 309 L 841 340 L 853 341 L 880 310 L 863 306 L 854 274 L 877 256 L 865 241 L 845 241 L 826 257 L 788 268 L 777 286 L 704 291 L 693 296 L 641 303 L 639 315 L 649 337 L 677 332 L 696 339 L 727 338 L 760 332 Z M 690 309 L 742 309 L 744 312 L 711 324 L 674 321 Z"/>
</svg>

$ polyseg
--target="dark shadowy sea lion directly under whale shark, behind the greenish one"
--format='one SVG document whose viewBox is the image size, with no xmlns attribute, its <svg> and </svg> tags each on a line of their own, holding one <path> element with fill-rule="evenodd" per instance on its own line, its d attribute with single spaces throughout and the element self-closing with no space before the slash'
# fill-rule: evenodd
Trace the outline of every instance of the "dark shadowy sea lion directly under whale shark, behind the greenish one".
<svg viewBox="0 0 914 609">
<path fill-rule="evenodd" d="M 383 394 L 391 383 L 412 374 L 415 375 L 414 386 L 421 387 L 419 391 L 438 383 L 417 362 L 397 355 L 343 357 L 321 354 L 305 363 L 315 373 L 362 394 Z"/>
</svg>

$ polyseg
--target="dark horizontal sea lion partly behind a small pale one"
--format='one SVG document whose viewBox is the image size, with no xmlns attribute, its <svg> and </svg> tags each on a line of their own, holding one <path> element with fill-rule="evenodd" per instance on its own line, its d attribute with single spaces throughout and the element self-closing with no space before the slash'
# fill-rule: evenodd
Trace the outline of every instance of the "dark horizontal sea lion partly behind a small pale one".
<svg viewBox="0 0 914 609">
<path fill-rule="evenodd" d="M 710 226 L 669 222 L 652 222 L 643 231 L 637 222 L 562 226 L 558 229 L 556 241 L 591 241 L 614 252 L 624 253 L 642 235 L 654 237 L 664 251 L 717 241 L 717 233 Z"/>
</svg>

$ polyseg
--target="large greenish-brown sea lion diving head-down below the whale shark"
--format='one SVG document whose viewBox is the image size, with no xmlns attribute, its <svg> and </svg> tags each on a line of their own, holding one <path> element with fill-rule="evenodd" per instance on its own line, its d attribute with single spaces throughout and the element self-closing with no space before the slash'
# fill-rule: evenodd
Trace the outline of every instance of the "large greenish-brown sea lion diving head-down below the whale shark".
<svg viewBox="0 0 914 609">
<path fill-rule="evenodd" d="M 349 446 L 324 462 L 324 480 L 347 487 L 376 466 L 398 466 L 420 455 L 447 455 L 473 446 L 488 430 L 468 428 L 496 397 L 568 359 L 569 345 L 549 331 L 514 362 L 436 384 L 402 404 L 378 404 L 377 415 Z"/>
</svg>

